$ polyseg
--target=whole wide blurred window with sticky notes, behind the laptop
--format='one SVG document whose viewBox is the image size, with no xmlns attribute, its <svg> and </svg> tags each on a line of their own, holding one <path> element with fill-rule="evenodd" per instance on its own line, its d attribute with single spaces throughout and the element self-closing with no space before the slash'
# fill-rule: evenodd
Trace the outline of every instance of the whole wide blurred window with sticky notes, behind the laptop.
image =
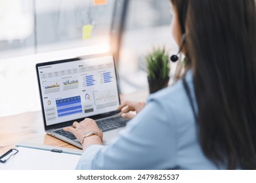
<svg viewBox="0 0 256 183">
<path fill-rule="evenodd" d="M 116 0 L 0 2 L 0 58 L 109 43 Z M 83 26 L 91 25 L 83 29 Z"/>
</svg>

